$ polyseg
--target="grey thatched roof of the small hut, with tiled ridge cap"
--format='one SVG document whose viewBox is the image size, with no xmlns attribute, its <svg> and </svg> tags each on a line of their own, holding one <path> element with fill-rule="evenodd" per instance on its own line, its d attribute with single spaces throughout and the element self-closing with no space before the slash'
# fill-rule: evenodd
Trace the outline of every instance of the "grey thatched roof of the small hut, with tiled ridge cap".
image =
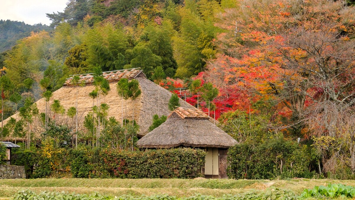
<svg viewBox="0 0 355 200">
<path fill-rule="evenodd" d="M 159 127 L 138 140 L 138 147 L 219 147 L 236 144 L 227 133 L 208 120 L 201 110 L 178 107 Z"/>
</svg>

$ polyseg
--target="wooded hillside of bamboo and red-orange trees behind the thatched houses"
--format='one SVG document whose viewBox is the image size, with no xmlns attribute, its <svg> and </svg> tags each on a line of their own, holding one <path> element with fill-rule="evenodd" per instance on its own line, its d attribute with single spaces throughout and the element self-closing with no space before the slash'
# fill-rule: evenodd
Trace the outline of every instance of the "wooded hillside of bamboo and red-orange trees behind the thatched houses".
<svg viewBox="0 0 355 200">
<path fill-rule="evenodd" d="M 0 57 L 4 117 L 50 98 L 70 74 L 141 68 L 240 142 L 230 177 L 355 177 L 349 2 L 70 0 L 47 16 L 53 32 Z"/>
</svg>

